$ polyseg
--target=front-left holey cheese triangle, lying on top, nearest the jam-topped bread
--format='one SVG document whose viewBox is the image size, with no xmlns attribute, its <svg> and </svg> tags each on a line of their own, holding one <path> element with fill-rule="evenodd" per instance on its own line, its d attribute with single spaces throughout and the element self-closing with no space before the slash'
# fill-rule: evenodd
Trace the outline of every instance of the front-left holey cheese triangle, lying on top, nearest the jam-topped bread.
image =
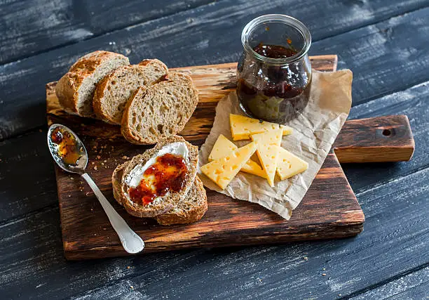
<svg viewBox="0 0 429 300">
<path fill-rule="evenodd" d="M 226 188 L 231 180 L 237 175 L 238 171 L 244 166 L 247 160 L 256 151 L 256 143 L 249 143 L 244 147 L 238 148 L 231 152 L 231 155 L 215 159 L 205 164 L 200 170 L 210 178 L 219 188 Z"/>
</svg>

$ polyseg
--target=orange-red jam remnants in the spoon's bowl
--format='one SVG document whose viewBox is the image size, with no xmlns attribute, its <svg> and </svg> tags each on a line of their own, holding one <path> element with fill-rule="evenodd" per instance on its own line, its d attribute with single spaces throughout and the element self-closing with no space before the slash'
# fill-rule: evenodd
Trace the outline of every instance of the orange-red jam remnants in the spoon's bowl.
<svg viewBox="0 0 429 300">
<path fill-rule="evenodd" d="M 55 128 L 50 133 L 50 140 L 58 145 L 58 155 L 64 164 L 76 165 L 81 154 L 74 137 L 67 131 L 62 131 L 60 127 Z"/>
</svg>

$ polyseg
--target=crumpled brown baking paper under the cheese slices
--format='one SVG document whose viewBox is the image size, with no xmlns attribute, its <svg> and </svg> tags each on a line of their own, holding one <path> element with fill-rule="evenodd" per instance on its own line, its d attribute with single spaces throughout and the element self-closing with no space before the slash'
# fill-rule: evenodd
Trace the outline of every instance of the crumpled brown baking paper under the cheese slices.
<svg viewBox="0 0 429 300">
<path fill-rule="evenodd" d="M 198 175 L 210 190 L 229 195 L 235 199 L 254 202 L 280 214 L 289 220 L 292 210 L 297 208 L 311 182 L 322 167 L 329 150 L 343 126 L 350 111 L 352 72 L 318 72 L 313 70 L 310 99 L 304 111 L 296 119 L 287 122 L 294 132 L 283 136 L 282 147 L 308 162 L 308 169 L 292 178 L 280 181 L 276 175 L 272 188 L 266 179 L 244 172 L 238 172 L 231 183 L 221 190 L 198 168 Z M 232 140 L 229 127 L 229 114 L 244 115 L 238 105 L 236 92 L 219 101 L 216 107 L 214 124 L 201 146 L 199 167 L 207 164 L 208 156 L 219 134 Z M 242 147 L 250 141 L 235 141 Z M 259 159 L 255 159 L 259 162 Z"/>
</svg>

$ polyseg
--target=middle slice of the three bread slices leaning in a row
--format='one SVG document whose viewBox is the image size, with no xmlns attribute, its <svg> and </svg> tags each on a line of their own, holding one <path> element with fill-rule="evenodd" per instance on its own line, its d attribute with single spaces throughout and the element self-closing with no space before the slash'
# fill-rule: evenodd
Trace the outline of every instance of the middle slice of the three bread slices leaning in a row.
<svg viewBox="0 0 429 300">
<path fill-rule="evenodd" d="M 121 124 L 125 104 L 137 88 L 153 84 L 167 73 L 161 60 L 118 67 L 97 84 L 93 98 L 95 115 L 104 122 Z"/>
</svg>

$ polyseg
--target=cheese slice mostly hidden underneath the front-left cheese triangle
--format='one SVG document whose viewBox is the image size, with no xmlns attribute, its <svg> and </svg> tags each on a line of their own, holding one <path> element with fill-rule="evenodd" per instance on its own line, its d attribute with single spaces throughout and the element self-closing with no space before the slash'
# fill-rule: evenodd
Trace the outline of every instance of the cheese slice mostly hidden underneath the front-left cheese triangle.
<svg viewBox="0 0 429 300">
<path fill-rule="evenodd" d="M 219 159 L 224 156 L 231 155 L 233 150 L 236 150 L 237 148 L 238 147 L 236 146 L 236 144 L 229 141 L 228 138 L 221 134 L 217 138 L 216 143 L 214 143 L 213 145 L 212 152 L 210 152 L 210 155 L 208 157 L 208 161 L 212 162 L 214 159 Z M 262 169 L 262 167 L 259 166 L 259 164 L 257 162 L 254 162 L 254 160 L 252 159 L 249 159 L 240 171 L 266 178 L 266 173 L 264 169 Z"/>
</svg>

